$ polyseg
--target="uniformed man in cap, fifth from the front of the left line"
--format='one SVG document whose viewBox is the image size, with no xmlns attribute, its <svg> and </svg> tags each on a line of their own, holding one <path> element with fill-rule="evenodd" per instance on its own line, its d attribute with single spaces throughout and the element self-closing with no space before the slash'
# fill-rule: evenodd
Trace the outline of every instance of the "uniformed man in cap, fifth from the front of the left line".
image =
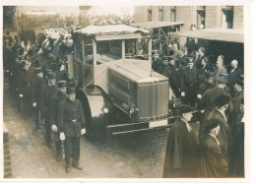
<svg viewBox="0 0 256 184">
<path fill-rule="evenodd" d="M 23 116 L 28 119 L 32 112 L 32 76 L 30 73 L 30 65 L 27 61 L 23 61 L 23 70 L 19 73 L 18 93 L 23 100 Z"/>
</svg>

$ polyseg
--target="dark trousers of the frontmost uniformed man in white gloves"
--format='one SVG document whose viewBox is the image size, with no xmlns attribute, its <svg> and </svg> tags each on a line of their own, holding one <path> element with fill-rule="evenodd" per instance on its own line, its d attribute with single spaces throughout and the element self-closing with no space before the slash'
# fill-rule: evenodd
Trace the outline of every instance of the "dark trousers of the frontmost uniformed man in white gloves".
<svg viewBox="0 0 256 184">
<path fill-rule="evenodd" d="M 80 157 L 80 137 L 66 137 L 65 162 L 67 168 L 71 167 L 71 157 L 72 165 L 78 165 Z"/>
</svg>

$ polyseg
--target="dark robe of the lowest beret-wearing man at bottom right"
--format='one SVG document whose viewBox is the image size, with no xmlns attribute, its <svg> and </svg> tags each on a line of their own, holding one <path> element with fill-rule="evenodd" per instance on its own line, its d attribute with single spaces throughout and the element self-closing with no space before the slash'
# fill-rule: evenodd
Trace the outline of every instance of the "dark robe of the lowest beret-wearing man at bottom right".
<svg viewBox="0 0 256 184">
<path fill-rule="evenodd" d="M 227 174 L 227 162 L 216 138 L 205 135 L 199 142 L 199 177 L 221 178 Z"/>
</svg>

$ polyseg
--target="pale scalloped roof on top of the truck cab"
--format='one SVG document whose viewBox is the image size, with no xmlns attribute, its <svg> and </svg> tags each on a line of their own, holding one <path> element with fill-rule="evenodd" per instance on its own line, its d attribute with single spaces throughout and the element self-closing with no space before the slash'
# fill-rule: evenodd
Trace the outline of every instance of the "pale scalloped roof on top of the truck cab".
<svg viewBox="0 0 256 184">
<path fill-rule="evenodd" d="M 106 25 L 106 26 L 88 26 L 86 28 L 76 30 L 75 33 L 86 34 L 88 36 L 94 35 L 116 35 L 116 34 L 133 34 L 133 33 L 143 33 L 151 34 L 150 31 L 131 27 L 128 25 Z"/>
</svg>

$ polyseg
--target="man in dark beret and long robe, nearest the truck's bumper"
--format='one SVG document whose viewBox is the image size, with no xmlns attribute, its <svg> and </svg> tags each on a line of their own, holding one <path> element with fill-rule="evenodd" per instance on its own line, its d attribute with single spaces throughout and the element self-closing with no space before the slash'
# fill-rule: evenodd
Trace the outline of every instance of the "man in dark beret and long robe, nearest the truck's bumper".
<svg viewBox="0 0 256 184">
<path fill-rule="evenodd" d="M 195 132 L 188 124 L 194 108 L 181 104 L 177 109 L 179 117 L 174 121 L 168 134 L 162 177 L 196 177 L 198 143 Z"/>
</svg>

